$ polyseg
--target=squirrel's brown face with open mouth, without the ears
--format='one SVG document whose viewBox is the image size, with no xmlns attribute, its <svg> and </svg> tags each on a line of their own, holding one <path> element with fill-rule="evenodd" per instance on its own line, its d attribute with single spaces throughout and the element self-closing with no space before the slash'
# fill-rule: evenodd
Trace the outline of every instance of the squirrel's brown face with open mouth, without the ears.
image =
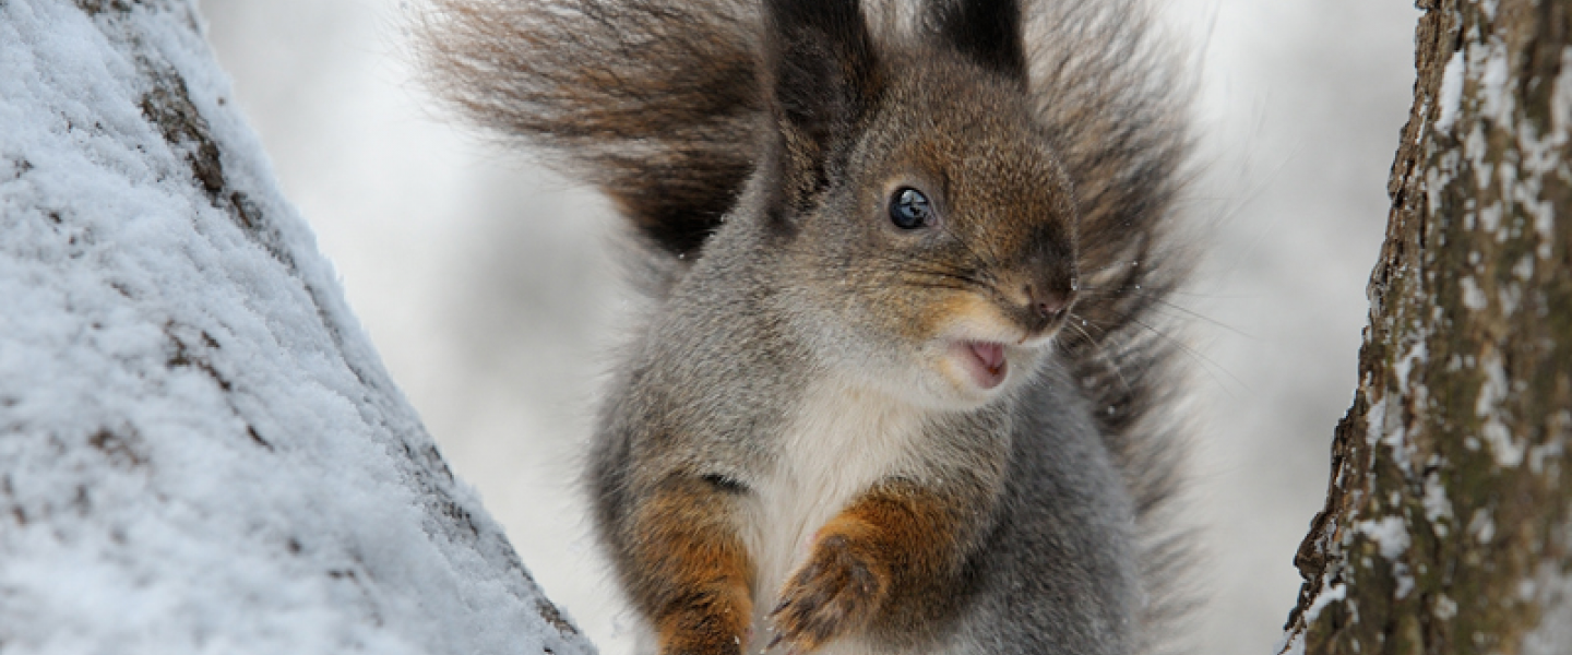
<svg viewBox="0 0 1572 655">
<path fill-rule="evenodd" d="M 920 405 L 1000 397 L 1047 357 L 1077 291 L 1071 184 L 1027 96 L 957 57 L 888 80 L 786 247 L 832 366 Z"/>
</svg>

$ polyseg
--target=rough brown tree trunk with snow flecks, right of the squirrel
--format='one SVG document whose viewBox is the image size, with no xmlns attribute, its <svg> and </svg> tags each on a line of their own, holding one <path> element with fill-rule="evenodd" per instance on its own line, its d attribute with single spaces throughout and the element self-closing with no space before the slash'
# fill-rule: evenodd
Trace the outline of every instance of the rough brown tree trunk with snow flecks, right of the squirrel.
<svg viewBox="0 0 1572 655">
<path fill-rule="evenodd" d="M 1287 650 L 1572 652 L 1572 2 L 1424 0 Z"/>
</svg>

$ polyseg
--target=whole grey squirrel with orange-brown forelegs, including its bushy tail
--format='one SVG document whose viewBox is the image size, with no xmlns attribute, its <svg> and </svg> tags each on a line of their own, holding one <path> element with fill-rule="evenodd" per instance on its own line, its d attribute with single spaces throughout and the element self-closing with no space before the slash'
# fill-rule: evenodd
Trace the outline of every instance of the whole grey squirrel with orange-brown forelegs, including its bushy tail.
<svg viewBox="0 0 1572 655">
<path fill-rule="evenodd" d="M 1138 0 L 432 0 L 429 80 L 604 190 L 594 435 L 663 655 L 1171 641 L 1187 93 Z"/>
</svg>

